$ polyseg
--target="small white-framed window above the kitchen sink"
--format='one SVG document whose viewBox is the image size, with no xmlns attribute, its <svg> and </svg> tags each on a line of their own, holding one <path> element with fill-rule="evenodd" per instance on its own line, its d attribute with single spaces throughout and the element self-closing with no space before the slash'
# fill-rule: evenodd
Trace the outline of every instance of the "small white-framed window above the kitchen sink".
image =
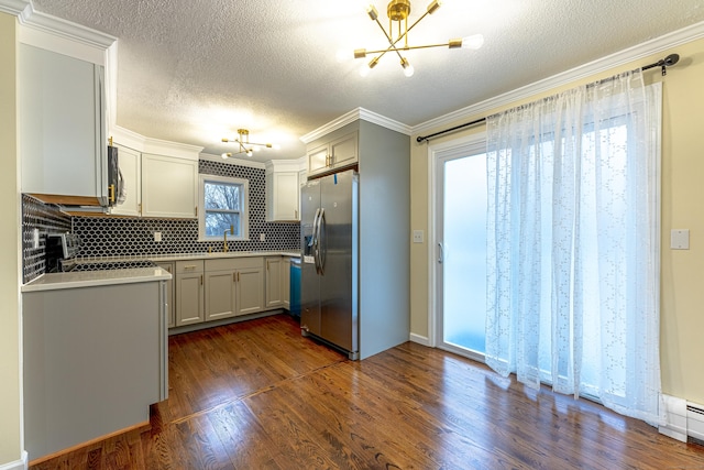
<svg viewBox="0 0 704 470">
<path fill-rule="evenodd" d="M 249 240 L 249 193 L 246 179 L 200 175 L 199 240 Z"/>
</svg>

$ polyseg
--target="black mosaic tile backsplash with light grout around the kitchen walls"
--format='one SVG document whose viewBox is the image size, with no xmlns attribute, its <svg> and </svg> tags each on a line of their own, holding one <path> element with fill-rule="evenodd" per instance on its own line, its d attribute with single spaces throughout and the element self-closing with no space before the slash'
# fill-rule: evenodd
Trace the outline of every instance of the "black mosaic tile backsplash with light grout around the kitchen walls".
<svg viewBox="0 0 704 470">
<path fill-rule="evenodd" d="M 298 223 L 266 222 L 265 172 L 261 168 L 228 163 L 199 161 L 202 174 L 245 178 L 250 182 L 250 241 L 228 240 L 230 251 L 297 251 L 300 243 Z M 46 232 L 73 230 L 81 239 L 80 256 L 148 256 L 175 253 L 202 253 L 208 248 L 222 251 L 222 242 L 199 242 L 195 219 L 142 219 L 110 217 L 68 217 L 55 207 L 23 196 L 23 274 L 29 282 L 46 270 L 44 240 Z M 41 243 L 32 249 L 32 230 L 40 228 Z M 154 232 L 162 241 L 154 241 Z M 264 233 L 265 241 L 260 241 Z"/>
</svg>

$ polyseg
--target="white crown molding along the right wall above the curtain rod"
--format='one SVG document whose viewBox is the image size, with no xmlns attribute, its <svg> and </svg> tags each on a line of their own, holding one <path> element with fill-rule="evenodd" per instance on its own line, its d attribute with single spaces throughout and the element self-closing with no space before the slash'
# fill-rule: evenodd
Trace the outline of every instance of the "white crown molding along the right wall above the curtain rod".
<svg viewBox="0 0 704 470">
<path fill-rule="evenodd" d="M 683 28 L 682 30 L 668 33 L 634 47 L 607 55 L 606 57 L 590 62 L 558 75 L 553 75 L 552 77 L 422 122 L 413 128 L 411 134 L 427 133 L 429 131 L 437 130 L 440 127 L 455 124 L 462 119 L 475 119 L 477 116 L 486 114 L 496 108 L 510 106 L 517 101 L 550 91 L 583 78 L 593 77 L 594 75 L 629 64 L 634 61 L 638 61 L 660 52 L 672 52 L 669 50 L 702 37 L 704 37 L 704 22 Z"/>
</svg>

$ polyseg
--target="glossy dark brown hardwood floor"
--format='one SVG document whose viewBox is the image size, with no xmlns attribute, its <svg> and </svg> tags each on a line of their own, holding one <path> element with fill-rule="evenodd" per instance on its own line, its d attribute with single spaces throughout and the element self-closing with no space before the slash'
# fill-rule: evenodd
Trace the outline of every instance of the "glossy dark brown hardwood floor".
<svg viewBox="0 0 704 470">
<path fill-rule="evenodd" d="M 32 468 L 704 469 L 588 401 L 411 342 L 349 361 L 285 315 L 172 337 L 169 364 L 150 426 Z"/>
</svg>

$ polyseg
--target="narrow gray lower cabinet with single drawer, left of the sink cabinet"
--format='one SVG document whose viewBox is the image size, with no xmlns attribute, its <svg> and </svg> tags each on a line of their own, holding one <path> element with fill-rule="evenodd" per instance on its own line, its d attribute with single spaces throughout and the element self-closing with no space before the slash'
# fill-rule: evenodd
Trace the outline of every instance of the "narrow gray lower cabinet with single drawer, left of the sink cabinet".
<svg viewBox="0 0 704 470">
<path fill-rule="evenodd" d="M 204 262 L 176 262 L 176 326 L 200 324 L 205 320 L 204 310 Z"/>
</svg>

